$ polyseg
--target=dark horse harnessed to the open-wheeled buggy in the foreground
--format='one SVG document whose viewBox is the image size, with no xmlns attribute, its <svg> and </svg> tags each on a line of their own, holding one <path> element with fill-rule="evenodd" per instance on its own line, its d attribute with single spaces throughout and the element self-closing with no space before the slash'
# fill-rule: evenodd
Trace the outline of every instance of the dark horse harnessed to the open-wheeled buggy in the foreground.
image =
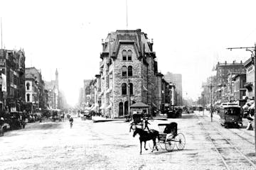
<svg viewBox="0 0 256 170">
<path fill-rule="evenodd" d="M 145 131 L 145 130 L 142 130 L 140 128 L 136 128 L 134 130 L 134 134 L 133 134 L 133 137 L 135 137 L 135 135 L 137 135 L 137 133 L 139 134 L 139 142 L 140 142 L 140 154 L 142 154 L 142 142 L 144 142 L 144 148 L 145 150 L 146 149 L 146 141 L 148 140 L 153 140 L 153 148 L 152 148 L 152 151 L 154 151 L 154 147 L 156 147 L 156 137 L 159 137 L 159 132 L 157 130 L 149 130 L 149 131 Z M 158 151 L 157 147 L 156 147 L 156 150 Z"/>
</svg>

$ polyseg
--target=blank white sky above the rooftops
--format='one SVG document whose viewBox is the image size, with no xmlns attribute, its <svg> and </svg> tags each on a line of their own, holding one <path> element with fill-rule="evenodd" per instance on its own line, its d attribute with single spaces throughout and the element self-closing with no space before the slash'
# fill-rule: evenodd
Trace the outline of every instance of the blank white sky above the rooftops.
<svg viewBox="0 0 256 170">
<path fill-rule="evenodd" d="M 142 29 L 154 39 L 159 72 L 182 74 L 183 97 L 196 100 L 218 62 L 245 62 L 256 42 L 256 1 L 0 0 L 3 48 L 24 49 L 26 67 L 55 79 L 70 105 L 83 79 L 100 70 L 102 39 L 116 30 Z M 128 21 L 128 22 L 127 22 Z M 127 26 L 128 23 L 128 26 Z"/>
</svg>

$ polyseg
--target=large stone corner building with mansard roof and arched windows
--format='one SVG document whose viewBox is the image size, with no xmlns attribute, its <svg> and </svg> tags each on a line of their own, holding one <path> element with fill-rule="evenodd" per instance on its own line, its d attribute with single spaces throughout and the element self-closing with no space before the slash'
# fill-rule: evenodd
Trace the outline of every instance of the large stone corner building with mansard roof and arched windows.
<svg viewBox="0 0 256 170">
<path fill-rule="evenodd" d="M 97 103 L 103 115 L 122 118 L 129 106 L 142 102 L 153 113 L 158 103 L 157 62 L 153 40 L 138 30 L 117 30 L 102 41 Z M 131 113 L 132 114 L 132 113 Z"/>
</svg>

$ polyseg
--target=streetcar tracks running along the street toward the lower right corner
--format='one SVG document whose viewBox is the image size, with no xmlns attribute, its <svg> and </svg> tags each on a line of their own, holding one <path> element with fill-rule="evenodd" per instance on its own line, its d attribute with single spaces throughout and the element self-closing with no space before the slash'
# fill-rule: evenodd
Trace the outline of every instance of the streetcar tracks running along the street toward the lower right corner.
<svg viewBox="0 0 256 170">
<path fill-rule="evenodd" d="M 196 118 L 198 118 L 198 120 L 206 121 L 204 118 L 200 119 L 198 115 L 196 115 Z M 198 124 L 201 125 L 201 128 L 206 132 L 208 139 L 212 143 L 215 151 L 220 156 L 220 159 L 222 160 L 226 169 L 241 169 L 245 167 L 256 169 L 255 163 L 252 162 L 252 160 L 249 159 L 245 154 L 243 154 L 240 151 L 240 149 L 238 149 L 238 147 L 236 147 L 233 144 L 233 142 L 231 142 L 229 139 L 224 137 L 222 133 L 218 129 L 216 129 L 213 125 L 211 124 L 204 125 L 202 121 L 200 121 Z M 210 126 L 210 128 L 208 129 L 214 130 L 213 134 L 208 132 L 208 130 L 206 129 L 207 126 Z M 230 132 L 233 132 L 233 131 L 230 130 Z M 238 135 L 235 132 L 233 133 L 235 135 Z"/>
</svg>

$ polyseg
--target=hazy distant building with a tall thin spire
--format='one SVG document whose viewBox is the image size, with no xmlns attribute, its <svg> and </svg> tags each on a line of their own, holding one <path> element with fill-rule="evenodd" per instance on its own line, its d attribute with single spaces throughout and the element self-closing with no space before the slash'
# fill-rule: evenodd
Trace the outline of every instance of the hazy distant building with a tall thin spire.
<svg viewBox="0 0 256 170">
<path fill-rule="evenodd" d="M 55 80 L 45 81 L 45 89 L 48 91 L 49 108 L 59 108 L 59 86 L 58 86 L 58 70 L 55 72 Z"/>
</svg>

